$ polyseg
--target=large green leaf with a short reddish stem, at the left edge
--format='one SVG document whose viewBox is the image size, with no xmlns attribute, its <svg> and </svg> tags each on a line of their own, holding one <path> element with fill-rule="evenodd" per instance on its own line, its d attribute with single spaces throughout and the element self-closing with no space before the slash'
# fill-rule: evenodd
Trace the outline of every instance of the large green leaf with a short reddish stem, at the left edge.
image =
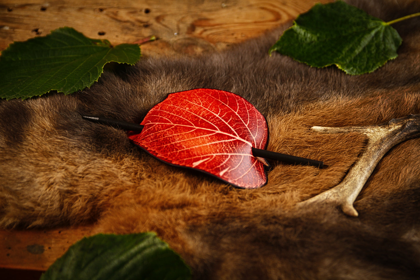
<svg viewBox="0 0 420 280">
<path fill-rule="evenodd" d="M 107 40 L 87 38 L 73 28 L 55 29 L 2 52 L 0 97 L 25 99 L 50 90 L 69 94 L 97 81 L 105 63 L 134 64 L 139 58 L 137 44 L 111 47 Z"/>
</svg>

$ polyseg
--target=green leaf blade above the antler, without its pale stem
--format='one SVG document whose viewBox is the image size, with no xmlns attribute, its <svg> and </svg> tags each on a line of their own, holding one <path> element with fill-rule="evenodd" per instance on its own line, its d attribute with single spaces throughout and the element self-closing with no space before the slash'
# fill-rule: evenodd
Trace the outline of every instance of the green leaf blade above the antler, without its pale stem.
<svg viewBox="0 0 420 280">
<path fill-rule="evenodd" d="M 273 45 L 278 51 L 310 66 L 336 64 L 347 74 L 364 74 L 397 57 L 402 39 L 379 18 L 342 1 L 316 4 L 296 18 Z"/>
</svg>

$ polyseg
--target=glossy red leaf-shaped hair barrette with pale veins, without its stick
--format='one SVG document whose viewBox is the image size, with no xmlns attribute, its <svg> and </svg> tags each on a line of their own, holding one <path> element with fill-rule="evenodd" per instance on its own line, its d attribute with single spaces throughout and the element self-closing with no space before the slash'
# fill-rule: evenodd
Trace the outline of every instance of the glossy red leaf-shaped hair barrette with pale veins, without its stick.
<svg viewBox="0 0 420 280">
<path fill-rule="evenodd" d="M 265 148 L 267 123 L 239 95 L 204 88 L 171 93 L 141 124 L 142 132 L 129 132 L 129 139 L 162 161 L 199 169 L 239 188 L 267 182 L 264 164 L 251 149 Z"/>
</svg>

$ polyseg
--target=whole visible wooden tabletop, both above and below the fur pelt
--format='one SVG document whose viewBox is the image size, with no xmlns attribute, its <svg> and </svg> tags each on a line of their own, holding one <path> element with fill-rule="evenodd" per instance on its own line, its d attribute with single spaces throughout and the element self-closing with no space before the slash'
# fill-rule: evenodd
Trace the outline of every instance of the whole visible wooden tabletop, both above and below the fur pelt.
<svg viewBox="0 0 420 280">
<path fill-rule="evenodd" d="M 0 0 L 0 50 L 61 26 L 113 45 L 155 35 L 145 55 L 197 55 L 257 37 L 328 0 Z M 0 159 L 1 160 L 1 159 Z M 0 267 L 45 270 L 95 227 L 0 230 Z"/>
</svg>

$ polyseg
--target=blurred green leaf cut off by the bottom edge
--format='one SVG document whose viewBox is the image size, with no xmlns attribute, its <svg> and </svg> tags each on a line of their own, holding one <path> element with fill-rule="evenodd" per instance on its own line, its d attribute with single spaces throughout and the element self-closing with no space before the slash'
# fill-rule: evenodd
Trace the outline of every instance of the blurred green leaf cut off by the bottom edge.
<svg viewBox="0 0 420 280">
<path fill-rule="evenodd" d="M 40 280 L 184 280 L 189 267 L 155 233 L 83 238 Z"/>
</svg>

